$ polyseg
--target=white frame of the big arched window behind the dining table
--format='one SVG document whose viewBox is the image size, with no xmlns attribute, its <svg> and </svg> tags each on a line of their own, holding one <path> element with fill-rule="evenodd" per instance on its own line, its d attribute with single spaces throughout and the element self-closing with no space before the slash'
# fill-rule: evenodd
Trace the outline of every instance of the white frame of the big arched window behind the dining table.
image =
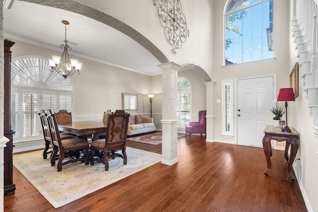
<svg viewBox="0 0 318 212">
<path fill-rule="evenodd" d="M 67 80 L 56 72 L 51 72 L 51 67 L 46 58 L 40 56 L 19 56 L 12 59 L 11 63 L 11 126 L 16 132 L 13 134 L 14 142 L 36 141 L 43 139 L 43 132 L 38 113 L 44 109 L 44 95 L 56 95 L 56 110 L 65 109 L 60 107 L 60 96 L 70 96 L 68 104 L 71 104 L 70 112 L 74 111 L 74 91 L 70 78 Z M 14 81 L 14 83 L 12 83 Z M 35 126 L 37 133 L 31 136 L 24 135 L 23 116 L 23 93 L 34 93 L 38 95 L 37 111 L 34 110 L 34 120 L 38 123 Z M 14 104 L 15 101 L 17 105 Z M 14 112 L 12 113 L 12 107 Z M 45 108 L 46 110 L 52 108 Z M 52 112 L 56 112 L 52 110 Z M 74 113 L 73 113 L 74 115 Z M 14 116 L 14 120 L 13 117 Z M 14 123 L 13 123 L 14 122 Z"/>
</svg>

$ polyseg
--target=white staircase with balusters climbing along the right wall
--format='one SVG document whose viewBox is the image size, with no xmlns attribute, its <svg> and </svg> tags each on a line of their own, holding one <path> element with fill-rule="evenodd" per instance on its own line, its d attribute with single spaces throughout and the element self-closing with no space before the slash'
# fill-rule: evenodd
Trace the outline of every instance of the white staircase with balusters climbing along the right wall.
<svg viewBox="0 0 318 212">
<path fill-rule="evenodd" d="M 295 3 L 296 2 L 296 3 Z M 299 85 L 306 92 L 318 137 L 318 0 L 294 0 L 291 28 L 299 58 Z"/>
</svg>

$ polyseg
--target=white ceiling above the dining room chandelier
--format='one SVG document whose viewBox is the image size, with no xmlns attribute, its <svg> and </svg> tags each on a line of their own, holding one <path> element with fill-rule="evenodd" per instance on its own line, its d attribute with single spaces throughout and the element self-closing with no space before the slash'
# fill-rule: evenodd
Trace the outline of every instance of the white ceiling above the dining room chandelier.
<svg viewBox="0 0 318 212">
<path fill-rule="evenodd" d="M 62 54 L 60 45 L 65 40 L 62 20 L 70 22 L 67 40 L 72 48 L 71 57 L 79 56 L 147 75 L 162 73 L 158 67 L 160 62 L 149 51 L 118 30 L 74 12 L 36 3 L 15 0 L 11 9 L 3 9 L 4 38 Z M 83 69 L 87 69 L 84 63 Z"/>
</svg>

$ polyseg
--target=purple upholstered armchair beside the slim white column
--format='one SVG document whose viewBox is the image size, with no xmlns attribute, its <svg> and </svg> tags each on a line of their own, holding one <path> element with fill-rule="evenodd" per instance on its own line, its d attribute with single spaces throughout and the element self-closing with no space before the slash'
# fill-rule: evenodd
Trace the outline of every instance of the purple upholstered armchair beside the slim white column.
<svg viewBox="0 0 318 212">
<path fill-rule="evenodd" d="M 185 127 L 185 134 L 206 134 L 207 133 L 207 115 L 206 110 L 199 111 L 199 121 L 198 122 L 189 122 L 189 125 Z"/>
</svg>

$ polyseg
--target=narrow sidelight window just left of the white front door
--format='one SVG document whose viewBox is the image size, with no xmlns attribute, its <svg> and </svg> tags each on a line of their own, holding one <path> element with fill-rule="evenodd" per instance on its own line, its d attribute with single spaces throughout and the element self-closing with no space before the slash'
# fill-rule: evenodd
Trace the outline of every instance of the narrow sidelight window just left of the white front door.
<svg viewBox="0 0 318 212">
<path fill-rule="evenodd" d="M 233 136 L 233 81 L 222 81 L 222 135 Z"/>
</svg>

